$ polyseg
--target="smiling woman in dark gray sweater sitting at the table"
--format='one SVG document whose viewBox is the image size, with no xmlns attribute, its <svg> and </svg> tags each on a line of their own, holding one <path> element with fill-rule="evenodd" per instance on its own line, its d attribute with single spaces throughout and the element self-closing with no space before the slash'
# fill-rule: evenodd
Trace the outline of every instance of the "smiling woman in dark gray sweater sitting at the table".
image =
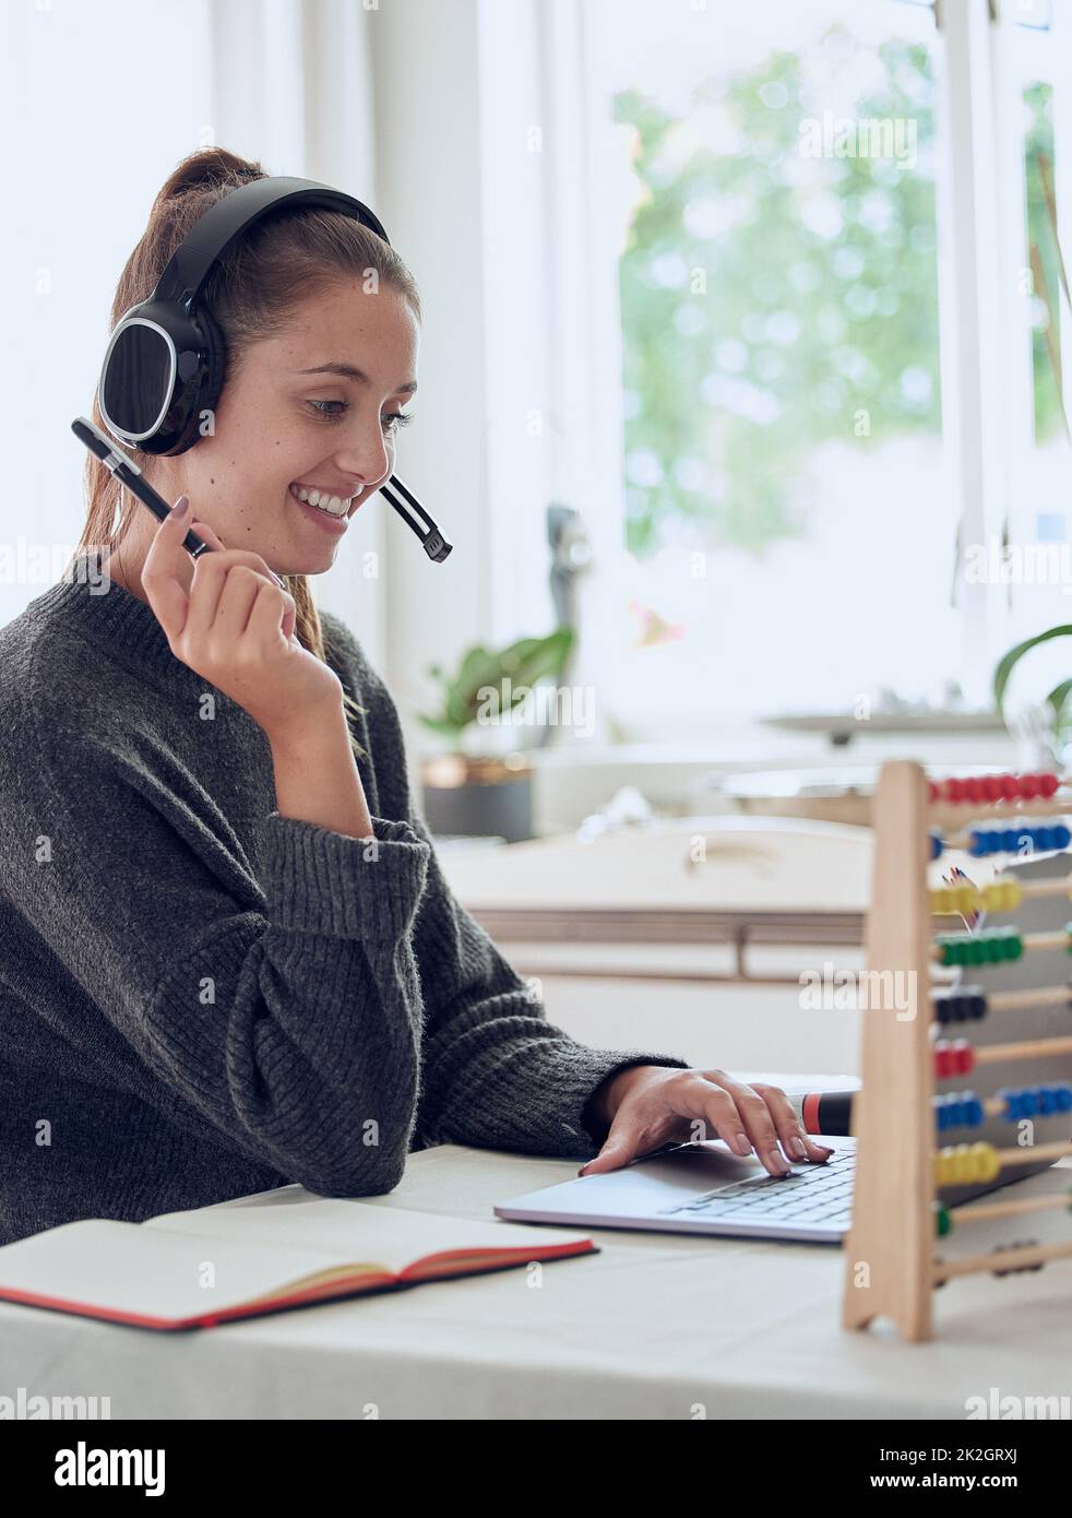
<svg viewBox="0 0 1072 1518">
<path fill-rule="evenodd" d="M 261 175 L 220 149 L 178 167 L 112 326 Z M 773 1087 L 547 1022 L 443 880 L 389 692 L 317 615 L 307 577 L 392 474 L 416 389 L 398 255 L 304 208 L 254 226 L 207 304 L 216 413 L 138 455 L 172 516 L 90 458 L 70 577 L 0 631 L 0 1242 L 293 1181 L 377 1195 L 434 1143 L 598 1170 L 712 1131 L 776 1173 L 779 1140 L 824 1158 Z M 216 550 L 196 565 L 190 527 Z"/>
</svg>

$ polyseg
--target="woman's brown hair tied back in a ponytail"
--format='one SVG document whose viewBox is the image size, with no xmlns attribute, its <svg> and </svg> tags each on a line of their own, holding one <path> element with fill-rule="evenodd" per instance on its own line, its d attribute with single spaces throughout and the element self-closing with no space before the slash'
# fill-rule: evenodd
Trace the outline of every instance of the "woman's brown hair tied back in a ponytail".
<svg viewBox="0 0 1072 1518">
<path fill-rule="evenodd" d="M 172 254 L 211 205 L 238 185 L 264 178 L 258 162 L 238 158 L 225 147 L 207 147 L 184 158 L 153 200 L 149 225 L 120 275 L 109 331 L 132 305 L 149 299 Z M 202 291 L 226 342 L 225 387 L 243 363 L 246 349 L 273 337 L 298 301 L 319 293 L 339 276 L 364 275 L 372 269 L 384 284 L 408 299 L 419 319 L 421 298 L 410 270 L 389 243 L 352 217 L 301 206 L 269 216 L 251 228 L 228 249 Z M 105 427 L 96 393 L 93 420 Z M 156 455 L 137 445 L 126 446 L 152 481 Z M 85 495 L 87 518 L 77 548 L 100 550 L 106 556 L 121 543 L 138 502 L 91 454 L 85 463 Z M 325 630 L 307 577 L 284 575 L 284 583 L 295 598 L 298 641 L 326 662 Z M 349 692 L 343 694 L 343 701 L 348 713 L 363 710 Z M 360 754 L 363 750 L 352 732 L 351 742 Z"/>
</svg>

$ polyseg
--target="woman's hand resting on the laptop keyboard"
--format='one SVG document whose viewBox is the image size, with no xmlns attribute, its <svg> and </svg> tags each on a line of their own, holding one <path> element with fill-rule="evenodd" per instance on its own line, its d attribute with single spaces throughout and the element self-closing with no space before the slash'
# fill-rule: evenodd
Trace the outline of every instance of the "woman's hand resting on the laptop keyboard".
<svg viewBox="0 0 1072 1518">
<path fill-rule="evenodd" d="M 616 1170 L 671 1140 L 724 1138 L 741 1158 L 755 1152 L 771 1175 L 790 1173 L 785 1155 L 823 1164 L 834 1154 L 802 1129 L 780 1087 L 744 1085 L 726 1070 L 635 1064 L 612 1076 L 598 1096 L 610 1131 L 579 1175 Z"/>
</svg>

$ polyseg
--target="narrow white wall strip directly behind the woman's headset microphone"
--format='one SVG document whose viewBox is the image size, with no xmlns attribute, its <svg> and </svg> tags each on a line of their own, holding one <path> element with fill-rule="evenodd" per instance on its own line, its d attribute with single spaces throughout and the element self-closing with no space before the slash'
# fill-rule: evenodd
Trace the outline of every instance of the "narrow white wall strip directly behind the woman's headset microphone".
<svg viewBox="0 0 1072 1518">
<path fill-rule="evenodd" d="M 425 311 L 411 404 L 419 422 L 399 446 L 398 474 L 456 543 L 449 559 L 433 563 L 387 509 L 381 674 L 415 761 L 424 739 L 411 707 L 433 691 L 424 668 L 451 662 L 487 619 L 475 0 L 392 0 L 374 20 L 377 214 Z"/>
</svg>

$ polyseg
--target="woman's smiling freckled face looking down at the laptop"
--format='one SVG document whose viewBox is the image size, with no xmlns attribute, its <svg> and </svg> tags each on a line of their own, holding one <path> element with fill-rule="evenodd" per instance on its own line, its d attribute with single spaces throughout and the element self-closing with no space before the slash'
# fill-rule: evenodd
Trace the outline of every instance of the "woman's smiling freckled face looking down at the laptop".
<svg viewBox="0 0 1072 1518">
<path fill-rule="evenodd" d="M 416 316 L 389 285 L 369 294 L 345 279 L 304 302 L 228 370 L 214 434 L 170 461 L 170 499 L 185 490 L 228 548 L 258 553 L 278 574 L 323 574 L 346 522 L 395 468 L 418 346 Z M 328 364 L 364 378 L 302 372 Z M 292 484 L 334 496 L 337 515 L 301 502 Z"/>
</svg>

